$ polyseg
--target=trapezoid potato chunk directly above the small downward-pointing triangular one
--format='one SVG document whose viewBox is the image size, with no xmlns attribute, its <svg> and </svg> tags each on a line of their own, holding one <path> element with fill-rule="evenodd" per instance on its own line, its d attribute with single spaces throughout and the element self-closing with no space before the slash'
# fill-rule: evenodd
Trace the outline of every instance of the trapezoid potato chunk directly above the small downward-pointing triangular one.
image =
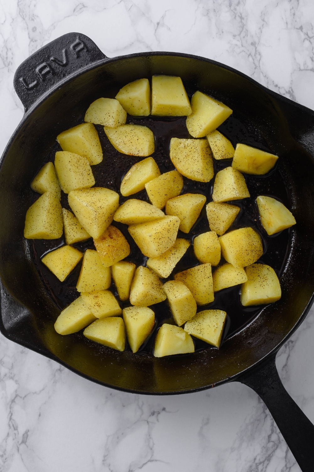
<svg viewBox="0 0 314 472">
<path fill-rule="evenodd" d="M 233 167 L 226 167 L 217 172 L 212 194 L 214 202 L 240 200 L 249 196 L 250 193 L 241 172 Z"/>
</svg>

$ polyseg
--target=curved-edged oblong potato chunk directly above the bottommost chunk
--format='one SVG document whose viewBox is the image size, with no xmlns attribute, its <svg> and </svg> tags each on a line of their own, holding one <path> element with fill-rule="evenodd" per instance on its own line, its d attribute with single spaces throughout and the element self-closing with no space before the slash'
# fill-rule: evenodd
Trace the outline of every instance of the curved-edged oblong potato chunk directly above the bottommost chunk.
<svg viewBox="0 0 314 472">
<path fill-rule="evenodd" d="M 163 285 L 170 310 L 178 326 L 190 320 L 196 313 L 196 302 L 191 291 L 179 280 L 169 280 Z"/>
</svg>

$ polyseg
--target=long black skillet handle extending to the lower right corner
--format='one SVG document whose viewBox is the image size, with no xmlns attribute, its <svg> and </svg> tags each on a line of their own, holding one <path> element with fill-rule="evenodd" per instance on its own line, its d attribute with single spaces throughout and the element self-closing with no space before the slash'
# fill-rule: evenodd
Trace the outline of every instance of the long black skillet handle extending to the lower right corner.
<svg viewBox="0 0 314 472">
<path fill-rule="evenodd" d="M 302 472 L 314 470 L 314 425 L 282 385 L 276 354 L 236 381 L 252 388 L 266 404 Z"/>
</svg>

